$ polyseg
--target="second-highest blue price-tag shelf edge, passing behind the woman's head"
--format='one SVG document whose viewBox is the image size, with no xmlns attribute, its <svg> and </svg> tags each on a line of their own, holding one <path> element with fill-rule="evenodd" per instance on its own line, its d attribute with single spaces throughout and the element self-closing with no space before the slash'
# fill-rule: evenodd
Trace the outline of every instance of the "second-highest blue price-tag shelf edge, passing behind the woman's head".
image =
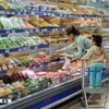
<svg viewBox="0 0 109 109">
<path fill-rule="evenodd" d="M 40 27 L 40 28 L 16 28 L 16 29 L 0 29 L 0 34 L 11 34 L 11 33 L 45 33 L 45 32 L 55 32 L 55 31 L 64 31 L 65 27 Z M 109 28 L 109 26 L 85 26 L 77 27 L 80 31 L 89 31 L 97 28 Z"/>
</svg>

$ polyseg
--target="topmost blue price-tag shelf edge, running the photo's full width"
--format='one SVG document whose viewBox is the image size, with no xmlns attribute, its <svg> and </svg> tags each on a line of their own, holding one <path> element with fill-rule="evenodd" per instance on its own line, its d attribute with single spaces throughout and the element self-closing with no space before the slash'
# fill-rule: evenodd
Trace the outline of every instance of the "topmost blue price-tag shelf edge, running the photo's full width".
<svg viewBox="0 0 109 109">
<path fill-rule="evenodd" d="M 1 15 L 47 15 L 60 17 L 109 17 L 109 15 L 89 15 L 89 14 L 66 14 L 58 12 L 43 12 L 43 11 L 0 11 Z"/>
</svg>

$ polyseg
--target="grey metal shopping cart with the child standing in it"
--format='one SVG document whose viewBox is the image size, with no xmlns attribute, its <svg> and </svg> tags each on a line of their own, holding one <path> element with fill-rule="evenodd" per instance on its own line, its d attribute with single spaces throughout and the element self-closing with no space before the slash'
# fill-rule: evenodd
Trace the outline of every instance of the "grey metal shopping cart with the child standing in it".
<svg viewBox="0 0 109 109">
<path fill-rule="evenodd" d="M 86 105 L 86 109 L 89 108 L 99 108 L 99 109 L 106 109 L 106 104 L 107 104 L 107 98 L 108 98 L 108 93 L 109 93 L 109 66 L 108 64 L 106 64 L 102 69 L 102 76 L 101 76 L 101 83 L 99 85 L 99 87 L 97 88 L 90 88 L 89 87 L 89 72 L 95 72 L 95 71 L 90 71 L 89 69 L 86 69 L 86 64 L 85 61 L 82 61 L 82 73 L 83 73 L 83 78 L 82 78 L 82 87 L 83 87 L 83 93 L 84 93 L 84 98 L 85 98 L 85 105 Z M 96 95 L 96 94 L 100 94 L 100 95 L 105 95 L 105 101 L 104 105 L 97 106 L 97 105 L 88 105 L 88 98 L 86 96 L 86 94 L 90 94 L 90 95 Z"/>
</svg>

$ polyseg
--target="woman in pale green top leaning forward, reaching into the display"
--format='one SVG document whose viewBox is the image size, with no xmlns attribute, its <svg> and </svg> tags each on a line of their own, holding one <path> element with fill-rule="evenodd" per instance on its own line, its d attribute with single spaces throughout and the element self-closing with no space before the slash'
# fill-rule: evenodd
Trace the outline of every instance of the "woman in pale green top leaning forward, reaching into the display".
<svg viewBox="0 0 109 109">
<path fill-rule="evenodd" d="M 68 26 L 64 31 L 64 36 L 69 39 L 69 41 L 72 41 L 72 44 L 65 48 L 59 49 L 56 51 L 56 55 L 61 53 L 62 51 L 66 50 L 74 50 L 77 49 L 77 52 L 75 55 L 66 55 L 66 58 L 72 59 L 80 59 L 82 58 L 82 49 L 89 49 L 92 47 L 90 39 L 83 37 L 80 34 L 80 31 L 76 29 L 74 26 Z"/>
</svg>

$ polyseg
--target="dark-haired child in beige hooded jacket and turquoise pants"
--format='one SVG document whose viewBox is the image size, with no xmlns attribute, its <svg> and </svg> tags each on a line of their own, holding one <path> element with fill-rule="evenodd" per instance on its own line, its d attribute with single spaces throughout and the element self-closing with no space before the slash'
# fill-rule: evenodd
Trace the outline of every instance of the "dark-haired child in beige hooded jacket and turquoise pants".
<svg viewBox="0 0 109 109">
<path fill-rule="evenodd" d="M 102 37 L 99 35 L 92 36 L 92 48 L 82 58 L 89 65 L 89 86 L 98 87 L 101 83 L 104 60 L 109 60 L 107 50 L 101 45 Z"/>
</svg>

